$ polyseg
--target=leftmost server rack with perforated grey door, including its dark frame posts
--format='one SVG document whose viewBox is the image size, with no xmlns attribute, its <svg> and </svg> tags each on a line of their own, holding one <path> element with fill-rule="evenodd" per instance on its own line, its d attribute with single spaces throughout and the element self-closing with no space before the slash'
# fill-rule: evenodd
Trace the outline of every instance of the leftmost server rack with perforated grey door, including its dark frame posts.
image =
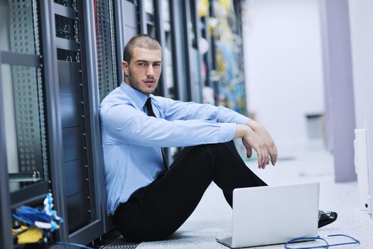
<svg viewBox="0 0 373 249">
<path fill-rule="evenodd" d="M 39 6 L 36 1 L 12 1 L 1 7 L 5 18 L 0 51 L 0 245 L 12 248 L 11 208 L 43 198 L 50 172 Z"/>
</svg>

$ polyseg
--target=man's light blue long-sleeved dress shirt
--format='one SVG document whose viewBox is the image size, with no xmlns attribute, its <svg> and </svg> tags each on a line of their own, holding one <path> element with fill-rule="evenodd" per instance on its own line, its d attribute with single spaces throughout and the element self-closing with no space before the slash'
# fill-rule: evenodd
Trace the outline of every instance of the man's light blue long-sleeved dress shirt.
<svg viewBox="0 0 373 249">
<path fill-rule="evenodd" d="M 161 147 L 228 142 L 236 124 L 249 121 L 226 107 L 149 97 L 157 118 L 146 114 L 147 96 L 124 82 L 101 103 L 104 178 L 111 214 L 163 171 Z"/>
</svg>

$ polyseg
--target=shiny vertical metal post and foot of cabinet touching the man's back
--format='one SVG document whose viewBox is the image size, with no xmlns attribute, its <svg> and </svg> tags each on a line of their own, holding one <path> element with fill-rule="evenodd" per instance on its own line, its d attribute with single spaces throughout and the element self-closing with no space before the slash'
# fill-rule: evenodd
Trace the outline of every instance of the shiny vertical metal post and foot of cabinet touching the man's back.
<svg viewBox="0 0 373 249">
<path fill-rule="evenodd" d="M 85 51 L 85 60 L 82 61 L 86 71 L 85 94 L 89 102 L 87 112 L 89 113 L 89 123 L 87 125 L 87 134 L 90 134 L 90 142 L 87 146 L 92 148 L 92 154 L 88 157 L 88 163 L 92 166 L 89 169 L 90 191 L 91 191 L 91 211 L 92 221 L 87 226 L 69 235 L 70 241 L 76 243 L 90 243 L 90 241 L 98 238 L 103 233 L 104 222 L 104 206 L 102 206 L 102 186 L 103 184 L 103 169 L 102 169 L 102 147 L 101 133 L 99 125 L 99 89 L 97 76 L 97 50 L 96 50 L 96 35 L 94 26 L 94 3 L 92 1 L 82 1 L 83 18 L 80 20 L 84 25 L 84 40 L 82 39 L 81 48 Z M 99 153 L 101 152 L 101 153 Z M 92 161 L 90 161 L 92 160 Z"/>
</svg>

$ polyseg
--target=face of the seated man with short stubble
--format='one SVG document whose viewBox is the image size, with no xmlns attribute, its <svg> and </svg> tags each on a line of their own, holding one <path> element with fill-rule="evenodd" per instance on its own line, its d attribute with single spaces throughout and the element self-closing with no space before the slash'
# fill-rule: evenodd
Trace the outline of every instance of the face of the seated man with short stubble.
<svg viewBox="0 0 373 249">
<path fill-rule="evenodd" d="M 158 85 L 162 71 L 162 52 L 158 49 L 135 48 L 131 61 L 122 61 L 121 68 L 124 70 L 126 84 L 149 95 Z"/>
</svg>

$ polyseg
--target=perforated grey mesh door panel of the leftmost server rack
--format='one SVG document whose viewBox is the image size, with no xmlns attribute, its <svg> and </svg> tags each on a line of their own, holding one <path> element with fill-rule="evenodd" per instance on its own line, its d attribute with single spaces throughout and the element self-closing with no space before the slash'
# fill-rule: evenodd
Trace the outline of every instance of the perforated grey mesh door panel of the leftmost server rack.
<svg viewBox="0 0 373 249">
<path fill-rule="evenodd" d="M 45 115 L 41 79 L 40 39 L 36 2 L 9 3 L 9 49 L 3 53 L 4 83 L 12 83 L 8 105 L 9 120 L 6 124 L 9 147 L 13 147 L 9 164 L 11 203 L 21 204 L 28 194 L 48 191 L 48 157 L 46 156 Z M 9 67 L 4 67 L 8 64 Z M 11 97 L 9 97 L 11 96 Z M 11 104 L 13 102 L 13 105 Z M 14 112 L 9 112 L 9 107 Z M 13 108 L 12 108 L 13 107 Z M 14 121 L 13 121 L 14 120 Z M 16 141 L 12 146 L 11 139 Z M 16 154 L 16 155 L 15 155 Z M 9 157 L 11 159 L 11 157 Z M 36 196 L 35 196 L 36 197 Z M 36 197 L 37 198 L 37 197 Z"/>
</svg>

